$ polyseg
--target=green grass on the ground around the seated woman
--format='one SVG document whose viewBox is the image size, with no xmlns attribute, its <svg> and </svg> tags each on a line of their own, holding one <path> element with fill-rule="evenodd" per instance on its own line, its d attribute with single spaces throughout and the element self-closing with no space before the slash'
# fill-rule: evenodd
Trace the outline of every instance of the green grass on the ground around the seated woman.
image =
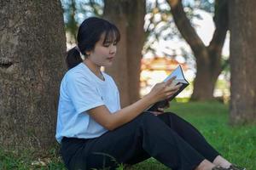
<svg viewBox="0 0 256 170">
<path fill-rule="evenodd" d="M 207 141 L 224 157 L 248 170 L 256 169 L 256 125 L 230 127 L 228 125 L 228 105 L 210 103 L 172 103 L 170 109 L 197 127 Z M 57 149 L 49 150 L 49 156 L 38 159 L 29 153 L 21 156 L 15 151 L 0 150 L 0 169 L 65 169 Z M 42 165 L 42 161 L 46 165 Z M 32 165 L 32 163 L 34 165 Z M 35 165 L 37 164 L 38 165 Z M 122 166 L 119 170 L 124 169 Z M 168 169 L 154 158 L 138 163 L 129 170 Z"/>
</svg>

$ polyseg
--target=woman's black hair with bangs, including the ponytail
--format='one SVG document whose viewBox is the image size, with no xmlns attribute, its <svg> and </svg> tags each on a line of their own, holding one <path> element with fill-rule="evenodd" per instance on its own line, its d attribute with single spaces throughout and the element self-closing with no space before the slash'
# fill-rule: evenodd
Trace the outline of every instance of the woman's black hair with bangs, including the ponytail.
<svg viewBox="0 0 256 170">
<path fill-rule="evenodd" d="M 104 35 L 103 44 L 107 42 L 117 43 L 120 40 L 119 29 L 108 20 L 96 17 L 85 19 L 79 26 L 77 47 L 67 51 L 66 63 L 68 69 L 72 69 L 83 62 L 80 53 L 86 57 L 86 52 L 95 48 L 96 42 L 101 39 L 102 35 Z"/>
</svg>

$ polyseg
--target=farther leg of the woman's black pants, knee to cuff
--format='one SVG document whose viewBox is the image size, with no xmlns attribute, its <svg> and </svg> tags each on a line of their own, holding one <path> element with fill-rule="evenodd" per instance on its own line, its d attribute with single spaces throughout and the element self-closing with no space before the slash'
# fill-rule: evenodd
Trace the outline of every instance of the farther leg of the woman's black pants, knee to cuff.
<svg viewBox="0 0 256 170">
<path fill-rule="evenodd" d="M 197 150 L 207 160 L 214 161 L 214 159 L 219 156 L 218 151 L 213 149 L 211 144 L 209 144 L 201 133 L 189 122 L 186 122 L 172 112 L 166 112 L 157 117 L 171 127 L 180 137 L 195 148 L 195 150 Z"/>
</svg>

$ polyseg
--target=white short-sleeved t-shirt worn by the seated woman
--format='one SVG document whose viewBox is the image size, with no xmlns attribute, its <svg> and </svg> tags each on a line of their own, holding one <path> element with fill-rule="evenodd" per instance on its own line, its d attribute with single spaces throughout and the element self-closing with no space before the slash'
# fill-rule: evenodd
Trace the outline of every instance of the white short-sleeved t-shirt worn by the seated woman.
<svg viewBox="0 0 256 170">
<path fill-rule="evenodd" d="M 113 113 L 120 109 L 119 90 L 113 78 L 102 72 L 104 81 L 81 63 L 67 71 L 61 81 L 55 138 L 91 139 L 108 130 L 87 113 L 105 105 Z"/>
</svg>

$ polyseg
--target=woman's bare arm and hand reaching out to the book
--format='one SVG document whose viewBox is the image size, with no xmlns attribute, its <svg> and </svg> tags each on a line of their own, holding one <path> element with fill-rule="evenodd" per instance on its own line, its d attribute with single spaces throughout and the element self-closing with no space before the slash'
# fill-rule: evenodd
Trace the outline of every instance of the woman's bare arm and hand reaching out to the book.
<svg viewBox="0 0 256 170">
<path fill-rule="evenodd" d="M 180 85 L 170 87 L 169 85 L 172 80 L 173 79 L 168 82 L 156 84 L 150 93 L 143 97 L 143 99 L 139 99 L 132 105 L 128 105 L 113 114 L 108 111 L 108 108 L 105 105 L 90 109 L 88 112 L 96 122 L 108 130 L 113 130 L 127 122 L 131 122 L 131 120 L 140 115 L 145 111 L 145 109 L 150 105 L 153 105 L 155 102 L 160 101 L 161 99 L 168 99 L 172 94 L 175 94 L 178 88 L 180 88 Z"/>
</svg>

